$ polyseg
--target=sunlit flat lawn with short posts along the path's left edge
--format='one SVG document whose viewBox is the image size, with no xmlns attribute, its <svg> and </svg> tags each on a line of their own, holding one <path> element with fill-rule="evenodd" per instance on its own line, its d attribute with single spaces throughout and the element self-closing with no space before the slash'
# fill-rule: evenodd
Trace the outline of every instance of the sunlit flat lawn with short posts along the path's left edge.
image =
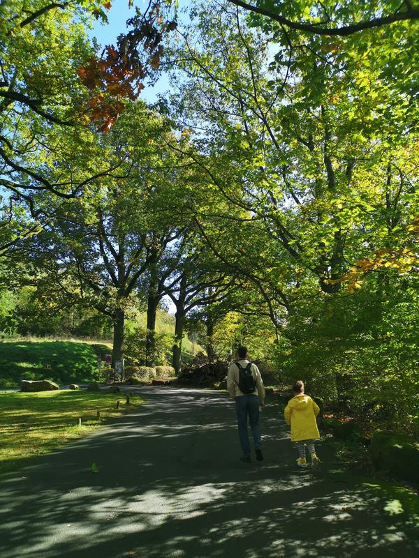
<svg viewBox="0 0 419 558">
<path fill-rule="evenodd" d="M 121 402 L 119 409 L 117 400 Z M 122 393 L 0 392 L 0 474 L 15 471 L 36 455 L 86 435 L 110 418 L 135 411 L 144 400 L 135 395 L 131 402 L 126 405 Z"/>
</svg>

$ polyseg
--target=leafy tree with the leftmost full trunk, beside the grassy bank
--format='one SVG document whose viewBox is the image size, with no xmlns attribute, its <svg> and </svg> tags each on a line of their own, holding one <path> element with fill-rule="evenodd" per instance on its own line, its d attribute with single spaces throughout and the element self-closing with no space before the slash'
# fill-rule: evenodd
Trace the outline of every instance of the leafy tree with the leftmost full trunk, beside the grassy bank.
<svg viewBox="0 0 419 558">
<path fill-rule="evenodd" d="M 179 235 L 175 218 L 182 211 L 172 173 L 168 180 L 175 161 L 161 141 L 168 133 L 158 114 L 133 106 L 97 146 L 98 160 L 106 146 L 110 160 L 112 150 L 116 160 L 125 154 L 118 172 L 97 179 L 83 197 L 60 204 L 52 223 L 28 244 L 57 287 L 110 316 L 115 360 L 124 354 L 126 310 L 140 278 Z M 63 277 L 71 278 L 70 288 Z"/>
</svg>

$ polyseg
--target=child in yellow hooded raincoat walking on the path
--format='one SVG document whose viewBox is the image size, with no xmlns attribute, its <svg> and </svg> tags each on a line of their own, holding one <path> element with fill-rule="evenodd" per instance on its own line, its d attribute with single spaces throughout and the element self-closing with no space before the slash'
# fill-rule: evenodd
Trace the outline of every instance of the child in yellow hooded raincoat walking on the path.
<svg viewBox="0 0 419 558">
<path fill-rule="evenodd" d="M 309 451 L 311 467 L 315 468 L 320 463 L 316 455 L 314 440 L 320 438 L 316 416 L 320 412 L 318 405 L 304 393 L 304 383 L 299 379 L 293 385 L 295 396 L 288 401 L 284 410 L 286 423 L 291 424 L 291 442 L 296 442 L 300 457 L 297 459 L 298 467 L 308 467 L 305 448 Z"/>
</svg>

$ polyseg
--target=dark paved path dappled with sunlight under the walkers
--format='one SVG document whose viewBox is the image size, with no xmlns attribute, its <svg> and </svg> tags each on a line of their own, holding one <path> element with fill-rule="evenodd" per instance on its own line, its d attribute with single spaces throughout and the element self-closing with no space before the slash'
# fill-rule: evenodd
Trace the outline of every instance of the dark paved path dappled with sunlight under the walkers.
<svg viewBox="0 0 419 558">
<path fill-rule="evenodd" d="M 140 412 L 3 479 L 1 558 L 419 556 L 411 516 L 374 481 L 340 472 L 321 447 L 320 470 L 295 467 L 273 407 L 263 466 L 247 465 L 224 394 L 138 392 Z"/>
</svg>

